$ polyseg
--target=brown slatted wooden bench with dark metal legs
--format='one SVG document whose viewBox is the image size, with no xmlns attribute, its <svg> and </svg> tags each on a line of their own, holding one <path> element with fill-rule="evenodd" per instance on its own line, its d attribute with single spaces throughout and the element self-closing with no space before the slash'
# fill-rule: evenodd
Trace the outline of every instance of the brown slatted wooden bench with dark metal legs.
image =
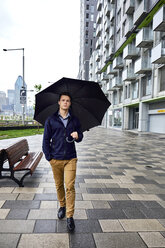
<svg viewBox="0 0 165 248">
<path fill-rule="evenodd" d="M 29 145 L 26 139 L 0 150 L 0 179 L 10 178 L 20 187 L 23 187 L 24 178 L 27 175 L 33 174 L 42 155 L 42 152 L 29 152 Z M 17 179 L 14 176 L 15 172 L 18 171 L 25 172 L 21 179 Z M 4 172 L 9 172 L 10 174 L 6 175 Z"/>
</svg>

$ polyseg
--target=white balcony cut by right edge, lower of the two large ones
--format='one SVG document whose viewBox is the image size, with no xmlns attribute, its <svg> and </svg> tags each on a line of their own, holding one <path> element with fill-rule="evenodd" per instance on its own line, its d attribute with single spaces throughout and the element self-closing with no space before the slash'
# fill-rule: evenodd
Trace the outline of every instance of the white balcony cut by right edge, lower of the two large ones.
<svg viewBox="0 0 165 248">
<path fill-rule="evenodd" d="M 151 52 L 151 63 L 165 64 L 165 40 L 161 41 Z"/>
</svg>

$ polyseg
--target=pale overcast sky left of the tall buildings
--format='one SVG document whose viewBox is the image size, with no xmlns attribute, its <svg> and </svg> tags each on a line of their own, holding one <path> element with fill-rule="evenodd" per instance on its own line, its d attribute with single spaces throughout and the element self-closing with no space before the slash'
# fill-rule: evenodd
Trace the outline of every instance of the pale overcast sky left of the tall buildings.
<svg viewBox="0 0 165 248">
<path fill-rule="evenodd" d="M 45 88 L 77 77 L 79 37 L 79 0 L 0 0 L 0 91 L 14 89 L 22 75 L 22 51 L 3 48 L 25 48 L 27 87 Z"/>
</svg>

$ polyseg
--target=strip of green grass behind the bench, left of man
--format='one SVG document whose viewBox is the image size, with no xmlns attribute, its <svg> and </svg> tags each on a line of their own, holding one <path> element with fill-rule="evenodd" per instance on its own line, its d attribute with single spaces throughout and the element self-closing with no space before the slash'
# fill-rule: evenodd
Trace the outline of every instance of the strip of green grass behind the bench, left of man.
<svg viewBox="0 0 165 248">
<path fill-rule="evenodd" d="M 33 129 L 21 129 L 21 130 L 15 129 L 15 130 L 0 131 L 0 140 L 43 134 L 43 131 L 44 131 L 43 128 L 40 128 L 39 130 L 37 128 L 35 129 L 33 128 Z"/>
</svg>

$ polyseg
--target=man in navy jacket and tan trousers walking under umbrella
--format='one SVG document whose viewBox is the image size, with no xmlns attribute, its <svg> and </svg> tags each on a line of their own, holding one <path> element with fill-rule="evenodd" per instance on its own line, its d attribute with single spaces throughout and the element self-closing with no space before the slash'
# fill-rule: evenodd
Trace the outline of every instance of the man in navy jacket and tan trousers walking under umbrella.
<svg viewBox="0 0 165 248">
<path fill-rule="evenodd" d="M 59 110 L 45 122 L 43 152 L 51 164 L 55 179 L 57 198 L 60 202 L 57 216 L 62 219 L 66 213 L 67 228 L 73 231 L 77 163 L 74 141 L 80 142 L 83 134 L 79 120 L 69 111 L 71 96 L 65 92 L 60 94 L 58 104 Z"/>
</svg>

